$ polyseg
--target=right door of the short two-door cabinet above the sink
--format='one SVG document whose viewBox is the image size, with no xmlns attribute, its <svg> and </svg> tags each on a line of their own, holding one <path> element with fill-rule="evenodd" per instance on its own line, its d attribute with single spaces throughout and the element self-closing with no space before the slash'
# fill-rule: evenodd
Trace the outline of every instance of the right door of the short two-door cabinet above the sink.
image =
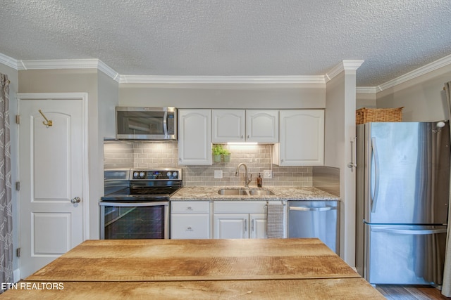
<svg viewBox="0 0 451 300">
<path fill-rule="evenodd" d="M 279 111 L 246 110 L 246 141 L 278 143 Z"/>
</svg>

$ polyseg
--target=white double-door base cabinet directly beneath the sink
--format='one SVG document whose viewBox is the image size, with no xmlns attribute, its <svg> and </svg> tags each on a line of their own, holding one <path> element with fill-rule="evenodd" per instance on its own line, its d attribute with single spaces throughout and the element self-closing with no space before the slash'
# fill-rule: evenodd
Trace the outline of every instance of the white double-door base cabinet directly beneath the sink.
<svg viewBox="0 0 451 300">
<path fill-rule="evenodd" d="M 265 201 L 215 201 L 213 237 L 266 238 Z"/>
</svg>

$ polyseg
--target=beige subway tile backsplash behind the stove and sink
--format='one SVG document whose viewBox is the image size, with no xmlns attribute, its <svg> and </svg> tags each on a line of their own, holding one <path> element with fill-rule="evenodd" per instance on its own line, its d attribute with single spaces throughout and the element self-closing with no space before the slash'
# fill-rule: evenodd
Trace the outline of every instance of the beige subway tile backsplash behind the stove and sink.
<svg viewBox="0 0 451 300">
<path fill-rule="evenodd" d="M 235 170 L 241 162 L 252 174 L 257 186 L 257 176 L 263 178 L 264 170 L 273 171 L 273 178 L 263 179 L 265 185 L 312 186 L 312 167 L 278 167 L 271 164 L 272 145 L 225 145 L 232 155 L 230 162 L 217 162 L 211 166 L 179 166 L 178 144 L 171 142 L 108 141 L 104 143 L 104 168 L 157 169 L 175 167 L 183 169 L 183 185 L 244 185 L 245 169 Z M 214 178 L 214 171 L 221 170 L 223 178 Z"/>
</svg>

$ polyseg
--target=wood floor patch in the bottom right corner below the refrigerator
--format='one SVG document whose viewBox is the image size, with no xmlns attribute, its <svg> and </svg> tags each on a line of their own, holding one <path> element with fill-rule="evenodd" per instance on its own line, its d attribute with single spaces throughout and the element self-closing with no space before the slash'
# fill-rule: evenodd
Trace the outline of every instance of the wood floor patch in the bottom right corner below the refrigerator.
<svg viewBox="0 0 451 300">
<path fill-rule="evenodd" d="M 387 299 L 451 299 L 441 294 L 439 289 L 424 285 L 376 285 L 376 289 Z"/>
</svg>

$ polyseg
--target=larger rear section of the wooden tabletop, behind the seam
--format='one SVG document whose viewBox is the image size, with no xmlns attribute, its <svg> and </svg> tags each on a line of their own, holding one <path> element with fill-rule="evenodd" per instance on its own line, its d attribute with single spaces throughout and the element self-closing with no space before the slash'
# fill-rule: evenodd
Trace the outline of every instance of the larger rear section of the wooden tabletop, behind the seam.
<svg viewBox="0 0 451 300">
<path fill-rule="evenodd" d="M 318 239 L 87 240 L 27 281 L 359 278 Z"/>
</svg>

